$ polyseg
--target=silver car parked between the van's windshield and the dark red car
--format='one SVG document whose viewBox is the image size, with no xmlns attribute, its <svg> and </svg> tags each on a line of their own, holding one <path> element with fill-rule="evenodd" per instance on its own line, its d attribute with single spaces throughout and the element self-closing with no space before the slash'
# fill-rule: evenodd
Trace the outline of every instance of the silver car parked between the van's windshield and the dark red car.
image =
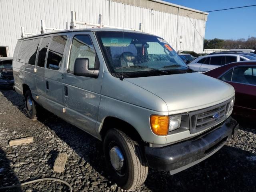
<svg viewBox="0 0 256 192">
<path fill-rule="evenodd" d="M 231 62 L 254 59 L 254 57 L 252 58 L 247 58 L 247 57 L 249 56 L 242 56 L 238 54 L 207 55 L 207 56 L 201 56 L 194 59 L 192 62 L 188 64 L 188 66 L 194 71 L 205 72 Z"/>
</svg>

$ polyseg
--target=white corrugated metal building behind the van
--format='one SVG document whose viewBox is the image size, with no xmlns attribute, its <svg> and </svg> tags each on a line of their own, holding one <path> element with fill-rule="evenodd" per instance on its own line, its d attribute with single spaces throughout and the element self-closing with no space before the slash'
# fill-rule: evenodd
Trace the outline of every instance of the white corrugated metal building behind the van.
<svg viewBox="0 0 256 192">
<path fill-rule="evenodd" d="M 71 11 L 76 20 L 139 29 L 161 36 L 176 51 L 203 52 L 208 13 L 161 0 L 0 0 L 0 55 L 12 56 L 21 27 L 40 33 L 40 20 L 47 27 L 66 29 Z M 123 24 L 124 21 L 124 24 Z M 90 26 L 76 25 L 76 28 Z"/>
</svg>

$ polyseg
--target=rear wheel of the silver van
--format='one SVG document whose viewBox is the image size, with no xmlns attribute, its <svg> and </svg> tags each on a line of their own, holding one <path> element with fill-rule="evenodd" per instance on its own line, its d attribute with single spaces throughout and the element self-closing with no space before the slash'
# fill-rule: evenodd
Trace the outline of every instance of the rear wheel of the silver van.
<svg viewBox="0 0 256 192">
<path fill-rule="evenodd" d="M 36 108 L 36 102 L 33 100 L 30 90 L 26 91 L 25 109 L 28 114 L 28 117 L 32 120 L 35 120 L 37 118 Z"/>
</svg>

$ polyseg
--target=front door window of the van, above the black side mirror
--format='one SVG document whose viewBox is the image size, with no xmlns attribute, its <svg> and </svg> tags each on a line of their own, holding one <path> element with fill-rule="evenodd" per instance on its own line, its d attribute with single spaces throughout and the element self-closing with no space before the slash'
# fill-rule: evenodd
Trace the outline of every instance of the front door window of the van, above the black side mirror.
<svg viewBox="0 0 256 192">
<path fill-rule="evenodd" d="M 77 58 L 88 58 L 89 69 L 95 69 L 97 62 L 95 48 L 89 35 L 76 35 L 73 38 L 70 59 L 68 65 L 68 72 L 72 73 L 74 69 L 75 60 Z"/>
</svg>

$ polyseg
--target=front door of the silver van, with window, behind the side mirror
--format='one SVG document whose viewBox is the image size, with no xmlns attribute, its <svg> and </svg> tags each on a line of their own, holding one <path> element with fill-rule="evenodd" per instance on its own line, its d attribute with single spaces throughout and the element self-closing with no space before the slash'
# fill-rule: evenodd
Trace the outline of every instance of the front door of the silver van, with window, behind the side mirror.
<svg viewBox="0 0 256 192">
<path fill-rule="evenodd" d="M 95 134 L 103 75 L 103 64 L 99 64 L 102 58 L 97 54 L 100 50 L 94 45 L 97 43 L 92 32 L 76 33 L 72 36 L 69 63 L 63 83 L 66 114 L 71 116 L 68 121 L 91 134 Z M 98 77 L 75 76 L 73 69 L 77 58 L 88 58 L 89 70 L 95 70 L 99 66 Z"/>
</svg>

